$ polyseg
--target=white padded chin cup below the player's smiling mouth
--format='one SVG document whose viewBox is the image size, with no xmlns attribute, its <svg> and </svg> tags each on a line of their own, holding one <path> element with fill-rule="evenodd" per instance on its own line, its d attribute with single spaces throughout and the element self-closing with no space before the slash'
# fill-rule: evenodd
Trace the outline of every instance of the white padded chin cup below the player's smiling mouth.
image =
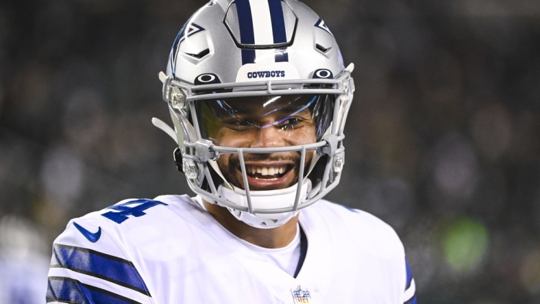
<svg viewBox="0 0 540 304">
<path fill-rule="evenodd" d="M 251 206 L 254 213 L 241 211 L 232 207 L 227 207 L 227 210 L 238 220 L 243 221 L 247 225 L 260 229 L 271 229 L 280 227 L 284 223 L 289 222 L 291 218 L 298 214 L 295 210 L 295 201 L 304 201 L 311 191 L 311 181 L 306 179 L 302 184 L 302 188 L 297 193 L 297 183 L 289 188 L 267 191 L 250 191 L 249 194 L 245 190 L 234 187 L 233 189 L 226 188 L 220 185 L 218 193 L 222 199 L 233 201 L 240 207 L 249 207 L 248 200 L 251 201 Z M 221 205 L 218 202 L 218 205 Z M 280 213 L 258 213 L 257 210 L 284 208 L 289 209 L 288 212 Z"/>
</svg>

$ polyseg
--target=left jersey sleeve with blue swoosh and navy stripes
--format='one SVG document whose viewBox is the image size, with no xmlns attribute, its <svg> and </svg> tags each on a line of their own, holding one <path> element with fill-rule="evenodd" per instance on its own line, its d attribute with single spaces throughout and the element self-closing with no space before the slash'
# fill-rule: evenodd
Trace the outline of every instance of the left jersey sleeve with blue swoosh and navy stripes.
<svg viewBox="0 0 540 304">
<path fill-rule="evenodd" d="M 101 216 L 71 220 L 53 243 L 47 303 L 154 303 Z"/>
</svg>

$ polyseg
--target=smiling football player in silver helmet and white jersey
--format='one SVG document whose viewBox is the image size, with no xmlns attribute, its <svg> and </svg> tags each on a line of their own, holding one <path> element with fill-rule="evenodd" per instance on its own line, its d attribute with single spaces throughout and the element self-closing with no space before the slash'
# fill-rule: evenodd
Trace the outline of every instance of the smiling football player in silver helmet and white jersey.
<svg viewBox="0 0 540 304">
<path fill-rule="evenodd" d="M 53 303 L 415 303 L 395 231 L 323 197 L 352 103 L 324 21 L 296 0 L 214 0 L 160 73 L 197 194 L 128 199 L 53 244 Z"/>
</svg>

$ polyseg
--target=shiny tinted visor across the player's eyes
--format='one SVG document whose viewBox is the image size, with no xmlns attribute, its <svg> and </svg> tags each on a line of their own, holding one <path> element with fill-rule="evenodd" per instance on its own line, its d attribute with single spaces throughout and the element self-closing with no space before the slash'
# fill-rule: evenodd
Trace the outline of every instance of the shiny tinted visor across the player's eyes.
<svg viewBox="0 0 540 304">
<path fill-rule="evenodd" d="M 195 103 L 202 138 L 223 147 L 287 147 L 319 141 L 332 121 L 328 94 L 205 99 Z"/>
</svg>

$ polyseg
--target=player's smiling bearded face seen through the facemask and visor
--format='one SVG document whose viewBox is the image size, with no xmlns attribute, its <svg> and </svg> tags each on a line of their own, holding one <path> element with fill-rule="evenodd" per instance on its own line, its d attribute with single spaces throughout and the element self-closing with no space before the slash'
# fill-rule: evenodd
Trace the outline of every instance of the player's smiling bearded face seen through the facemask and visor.
<svg viewBox="0 0 540 304">
<path fill-rule="evenodd" d="M 272 148 L 316 142 L 313 116 L 318 96 L 235 97 L 201 101 L 201 135 L 222 147 Z M 314 151 L 306 152 L 304 168 Z M 250 190 L 277 190 L 298 181 L 299 152 L 244 154 Z M 225 179 L 245 189 L 238 154 L 222 154 L 217 164 Z"/>
</svg>

